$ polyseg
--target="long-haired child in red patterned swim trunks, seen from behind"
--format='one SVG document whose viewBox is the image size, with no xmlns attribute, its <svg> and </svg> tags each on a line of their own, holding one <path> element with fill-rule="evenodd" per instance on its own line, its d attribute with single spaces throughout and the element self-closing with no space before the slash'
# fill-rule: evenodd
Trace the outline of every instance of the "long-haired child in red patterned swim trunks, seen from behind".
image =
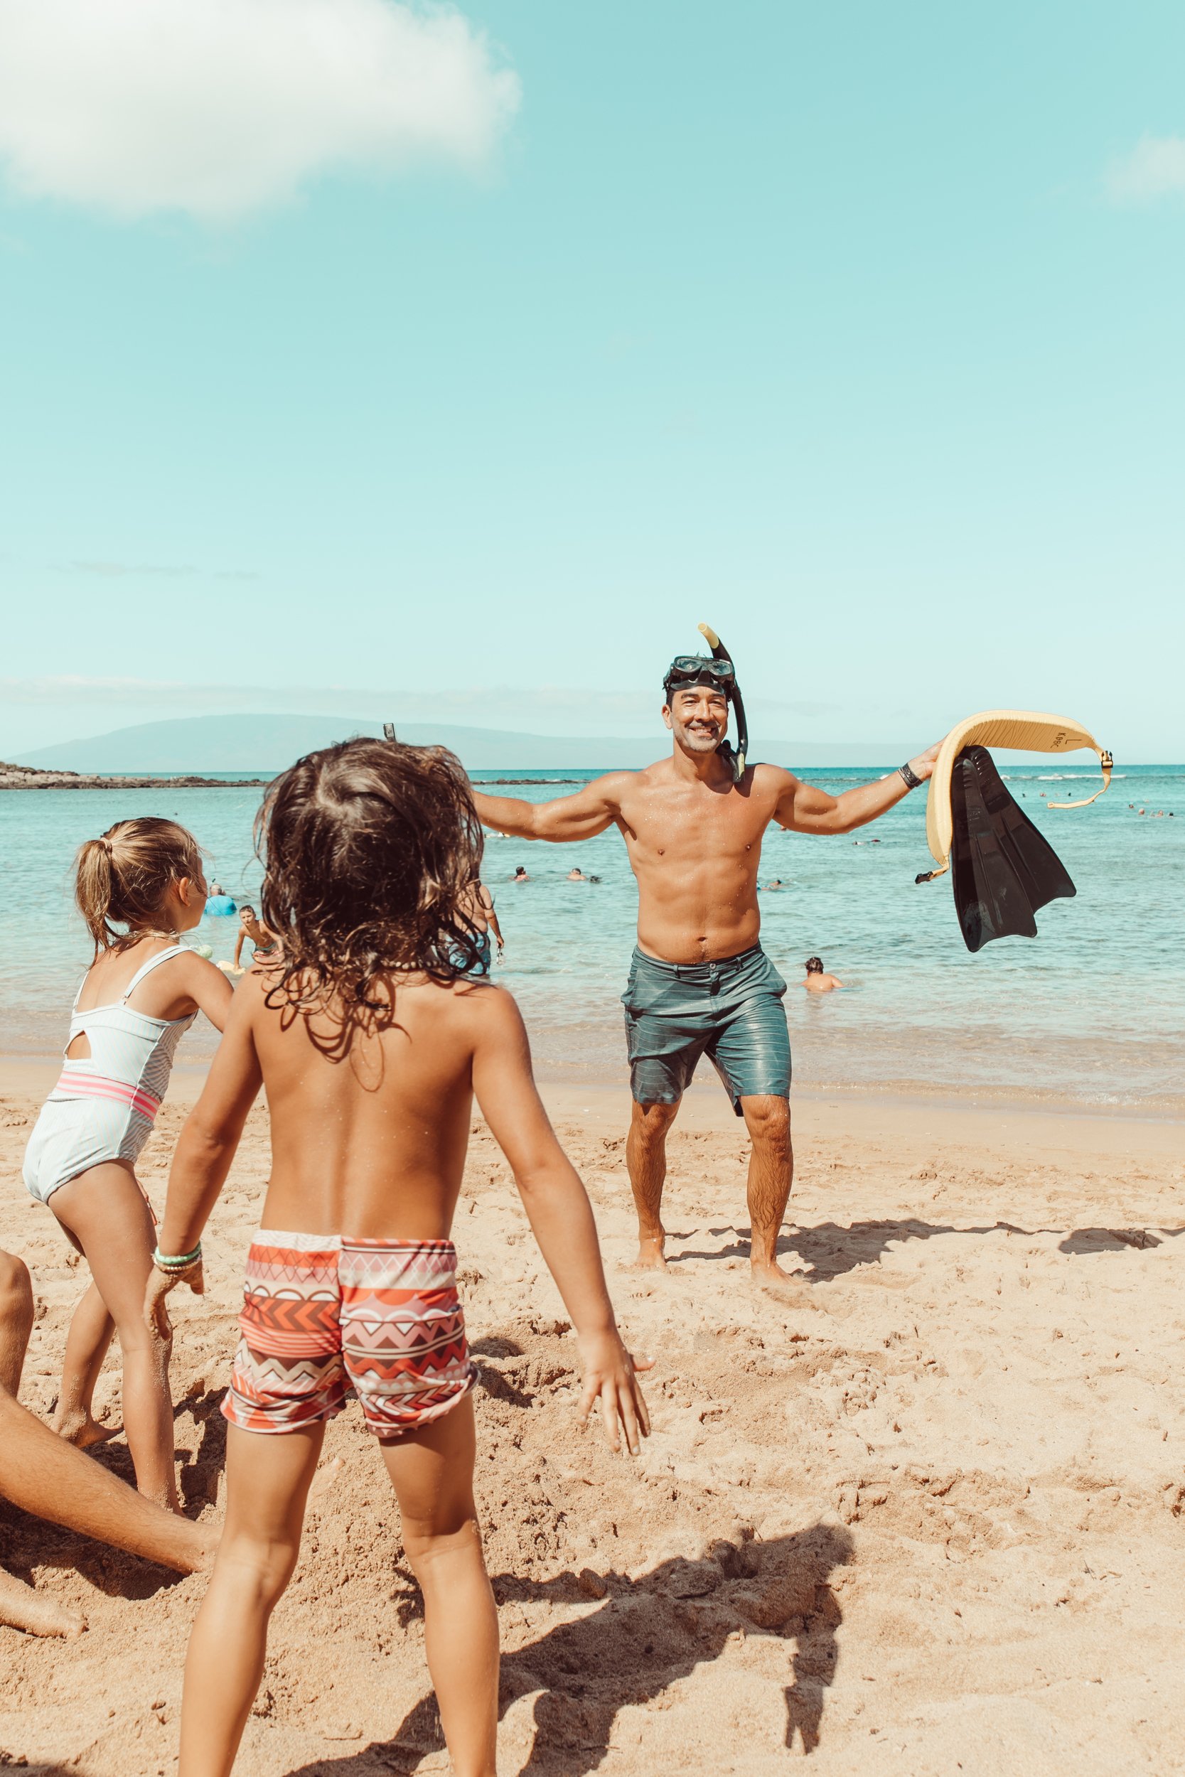
<svg viewBox="0 0 1185 1777">
<path fill-rule="evenodd" d="M 473 1500 L 474 1367 L 449 1239 L 478 1104 L 579 1336 L 581 1418 L 648 1432 L 592 1208 L 535 1091 L 513 999 L 465 917 L 481 828 L 442 748 L 345 741 L 300 759 L 259 814 L 279 960 L 245 977 L 178 1143 L 165 1294 L 201 1288 L 199 1237 L 259 1086 L 272 1118 L 224 1414 L 226 1528 L 185 1667 L 181 1777 L 226 1777 L 300 1550 L 325 1422 L 357 1393 L 425 1598 L 428 1669 L 457 1777 L 496 1777 L 497 1614 Z M 464 954 L 462 954 L 464 952 Z M 645 1365 L 640 1365 L 645 1368 Z"/>
</svg>

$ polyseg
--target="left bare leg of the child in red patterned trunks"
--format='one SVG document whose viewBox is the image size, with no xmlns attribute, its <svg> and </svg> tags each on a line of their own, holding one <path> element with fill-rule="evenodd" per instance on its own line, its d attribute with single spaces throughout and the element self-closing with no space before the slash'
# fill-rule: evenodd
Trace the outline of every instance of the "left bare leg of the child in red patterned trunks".
<svg viewBox="0 0 1185 1777">
<path fill-rule="evenodd" d="M 227 1777 L 235 1763 L 323 1439 L 323 1422 L 272 1434 L 227 1427 L 226 1526 L 185 1658 L 178 1777 Z"/>
</svg>

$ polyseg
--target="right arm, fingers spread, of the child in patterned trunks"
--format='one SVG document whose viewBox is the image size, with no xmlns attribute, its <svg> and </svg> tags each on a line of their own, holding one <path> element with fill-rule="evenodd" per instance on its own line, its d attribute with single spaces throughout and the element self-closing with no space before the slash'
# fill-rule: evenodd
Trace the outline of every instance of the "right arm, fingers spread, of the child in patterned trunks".
<svg viewBox="0 0 1185 1777">
<path fill-rule="evenodd" d="M 640 1438 L 650 1436 L 650 1414 L 634 1372 L 648 1370 L 650 1363 L 634 1363 L 616 1329 L 588 1192 L 535 1089 L 522 1015 L 503 992 L 483 992 L 474 1015 L 481 1031 L 473 1054 L 473 1089 L 510 1160 L 531 1233 L 572 1315 L 585 1370 L 581 1420 L 600 1400 L 609 1446 L 620 1450 L 620 1425 L 627 1448 L 638 1455 Z"/>
</svg>

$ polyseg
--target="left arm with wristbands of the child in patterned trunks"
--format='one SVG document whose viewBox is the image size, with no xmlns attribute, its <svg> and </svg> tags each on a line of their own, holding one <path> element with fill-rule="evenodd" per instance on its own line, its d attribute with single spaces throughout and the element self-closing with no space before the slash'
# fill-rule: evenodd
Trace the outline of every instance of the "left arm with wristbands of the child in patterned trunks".
<svg viewBox="0 0 1185 1777">
<path fill-rule="evenodd" d="M 208 965 L 211 967 L 211 965 Z M 213 970 L 217 974 L 217 970 Z M 156 1247 L 167 1256 L 192 1253 L 201 1240 L 210 1210 L 231 1169 L 247 1112 L 256 1102 L 263 1073 L 254 1041 L 254 1011 L 259 984 L 245 981 L 231 997 L 231 1016 L 206 1075 L 201 1098 L 185 1120 L 169 1169 L 169 1194 Z M 167 1329 L 165 1295 L 176 1283 L 188 1283 L 195 1295 L 204 1290 L 201 1260 L 188 1271 L 165 1276 L 153 1267 L 144 1297 L 149 1324 Z M 162 1320 L 163 1317 L 163 1320 Z"/>
</svg>

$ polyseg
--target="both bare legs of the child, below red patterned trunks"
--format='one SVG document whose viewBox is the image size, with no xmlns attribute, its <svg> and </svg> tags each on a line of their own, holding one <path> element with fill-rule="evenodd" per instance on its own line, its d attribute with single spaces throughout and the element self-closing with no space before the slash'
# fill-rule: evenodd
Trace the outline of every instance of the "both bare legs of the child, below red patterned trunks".
<svg viewBox="0 0 1185 1777">
<path fill-rule="evenodd" d="M 179 1777 L 229 1777 L 263 1677 L 266 1633 L 300 1553 L 323 1425 L 227 1429 L 219 1560 L 185 1661 Z M 457 1777 L 496 1777 L 497 1612 L 473 1503 L 473 1397 L 382 1455 L 425 1598 L 428 1670 Z"/>
</svg>

